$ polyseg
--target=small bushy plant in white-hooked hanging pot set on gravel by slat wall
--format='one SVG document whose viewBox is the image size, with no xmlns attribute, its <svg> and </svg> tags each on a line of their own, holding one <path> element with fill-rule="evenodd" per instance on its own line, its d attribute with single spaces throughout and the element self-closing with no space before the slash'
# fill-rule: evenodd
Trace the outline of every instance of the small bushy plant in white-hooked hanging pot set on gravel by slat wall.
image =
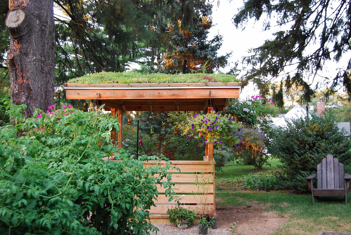
<svg viewBox="0 0 351 235">
<path fill-rule="evenodd" d="M 167 214 L 170 216 L 170 222 L 177 225 L 178 228 L 187 228 L 193 223 L 195 218 L 195 211 L 179 206 L 168 209 Z"/>
</svg>

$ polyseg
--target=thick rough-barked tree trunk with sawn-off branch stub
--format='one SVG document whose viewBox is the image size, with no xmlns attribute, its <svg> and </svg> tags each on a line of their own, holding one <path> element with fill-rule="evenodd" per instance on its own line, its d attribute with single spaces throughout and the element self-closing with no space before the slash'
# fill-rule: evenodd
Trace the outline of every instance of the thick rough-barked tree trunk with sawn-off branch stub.
<svg viewBox="0 0 351 235">
<path fill-rule="evenodd" d="M 55 28 L 53 0 L 9 0 L 6 26 L 10 32 L 7 63 L 11 102 L 35 108 L 54 104 Z"/>
</svg>

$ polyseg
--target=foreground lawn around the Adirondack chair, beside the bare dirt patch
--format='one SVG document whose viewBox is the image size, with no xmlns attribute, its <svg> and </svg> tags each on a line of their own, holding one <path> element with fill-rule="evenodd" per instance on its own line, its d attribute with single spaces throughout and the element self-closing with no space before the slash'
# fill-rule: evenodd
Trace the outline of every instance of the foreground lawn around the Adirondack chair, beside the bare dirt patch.
<svg viewBox="0 0 351 235">
<path fill-rule="evenodd" d="M 317 234 L 322 230 L 351 233 L 351 205 L 345 205 L 343 197 L 317 200 L 314 205 L 310 194 L 287 192 L 216 192 L 216 198 L 220 198 L 219 206 L 257 203 L 278 215 L 289 214 L 289 220 L 275 234 Z"/>
</svg>

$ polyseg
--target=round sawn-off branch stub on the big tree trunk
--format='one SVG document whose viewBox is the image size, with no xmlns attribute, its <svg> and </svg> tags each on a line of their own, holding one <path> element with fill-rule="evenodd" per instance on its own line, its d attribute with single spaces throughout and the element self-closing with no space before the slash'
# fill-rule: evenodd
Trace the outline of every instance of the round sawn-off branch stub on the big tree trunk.
<svg viewBox="0 0 351 235">
<path fill-rule="evenodd" d="M 8 12 L 5 24 L 8 31 L 14 38 L 22 37 L 24 34 L 29 32 L 28 30 L 28 19 L 26 19 L 26 13 L 23 9 L 15 8 Z"/>
</svg>

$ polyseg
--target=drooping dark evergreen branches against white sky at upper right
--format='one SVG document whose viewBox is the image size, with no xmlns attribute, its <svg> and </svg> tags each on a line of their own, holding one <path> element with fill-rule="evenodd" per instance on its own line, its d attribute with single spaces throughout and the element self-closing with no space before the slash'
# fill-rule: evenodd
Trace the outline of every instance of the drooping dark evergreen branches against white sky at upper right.
<svg viewBox="0 0 351 235">
<path fill-rule="evenodd" d="M 274 16 L 274 18 L 273 18 Z M 271 77 L 282 77 L 287 90 L 293 85 L 303 87 L 302 100 L 311 101 L 314 96 L 312 79 L 321 80 L 315 89 L 328 86 L 326 96 L 335 93 L 343 86 L 351 100 L 351 58 L 333 78 L 320 72 L 330 60 L 340 61 L 343 54 L 351 51 L 351 2 L 346 0 L 246 0 L 233 20 L 236 27 L 245 28 L 253 18 L 267 17 L 264 30 L 271 28 L 271 19 L 278 26 L 289 27 L 273 34 L 273 39 L 250 51 L 244 61 L 252 69 L 246 74 L 246 81 L 254 81 L 265 95 L 269 90 Z M 309 80 L 310 79 L 310 80 Z M 278 86 L 273 99 L 283 106 L 283 86 Z M 280 102 L 279 102 L 280 100 Z"/>
</svg>

